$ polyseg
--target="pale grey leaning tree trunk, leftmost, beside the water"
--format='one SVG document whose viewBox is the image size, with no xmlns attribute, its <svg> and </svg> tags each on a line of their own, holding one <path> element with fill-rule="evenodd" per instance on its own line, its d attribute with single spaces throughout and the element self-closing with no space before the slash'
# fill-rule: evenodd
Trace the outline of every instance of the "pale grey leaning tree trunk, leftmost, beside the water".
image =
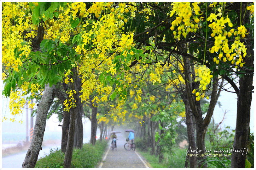
<svg viewBox="0 0 256 170">
<path fill-rule="evenodd" d="M 38 104 L 33 138 L 29 146 L 29 149 L 26 153 L 26 157 L 22 164 L 22 168 L 34 168 L 36 165 L 38 154 L 41 149 L 44 138 L 47 113 L 53 102 L 54 96 L 55 85 L 49 87 L 49 83 L 45 84 L 44 94 L 42 96 L 40 103 Z"/>
</svg>

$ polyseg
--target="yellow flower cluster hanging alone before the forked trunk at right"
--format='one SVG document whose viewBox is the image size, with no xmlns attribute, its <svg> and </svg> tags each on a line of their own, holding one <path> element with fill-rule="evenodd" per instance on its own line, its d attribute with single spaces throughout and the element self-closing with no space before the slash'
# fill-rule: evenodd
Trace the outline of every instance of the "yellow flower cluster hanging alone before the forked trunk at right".
<svg viewBox="0 0 256 170">
<path fill-rule="evenodd" d="M 201 98 L 205 97 L 205 90 L 207 88 L 207 85 L 211 82 L 211 78 L 213 76 L 211 75 L 210 69 L 207 68 L 206 65 L 195 69 L 195 76 L 196 78 L 194 81 L 200 81 L 200 86 L 198 92 L 196 92 L 196 89 L 194 89 L 192 93 L 195 93 L 195 99 L 196 101 L 199 101 Z"/>
</svg>

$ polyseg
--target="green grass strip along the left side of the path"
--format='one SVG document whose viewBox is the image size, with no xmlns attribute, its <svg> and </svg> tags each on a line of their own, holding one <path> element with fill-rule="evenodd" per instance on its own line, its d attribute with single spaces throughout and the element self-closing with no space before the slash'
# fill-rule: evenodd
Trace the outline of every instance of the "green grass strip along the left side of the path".
<svg viewBox="0 0 256 170">
<path fill-rule="evenodd" d="M 102 160 L 106 146 L 107 141 L 97 141 L 94 146 L 86 143 L 82 149 L 73 149 L 71 168 L 95 168 Z M 60 149 L 51 150 L 49 155 L 37 161 L 35 168 L 63 168 L 64 156 Z"/>
</svg>

